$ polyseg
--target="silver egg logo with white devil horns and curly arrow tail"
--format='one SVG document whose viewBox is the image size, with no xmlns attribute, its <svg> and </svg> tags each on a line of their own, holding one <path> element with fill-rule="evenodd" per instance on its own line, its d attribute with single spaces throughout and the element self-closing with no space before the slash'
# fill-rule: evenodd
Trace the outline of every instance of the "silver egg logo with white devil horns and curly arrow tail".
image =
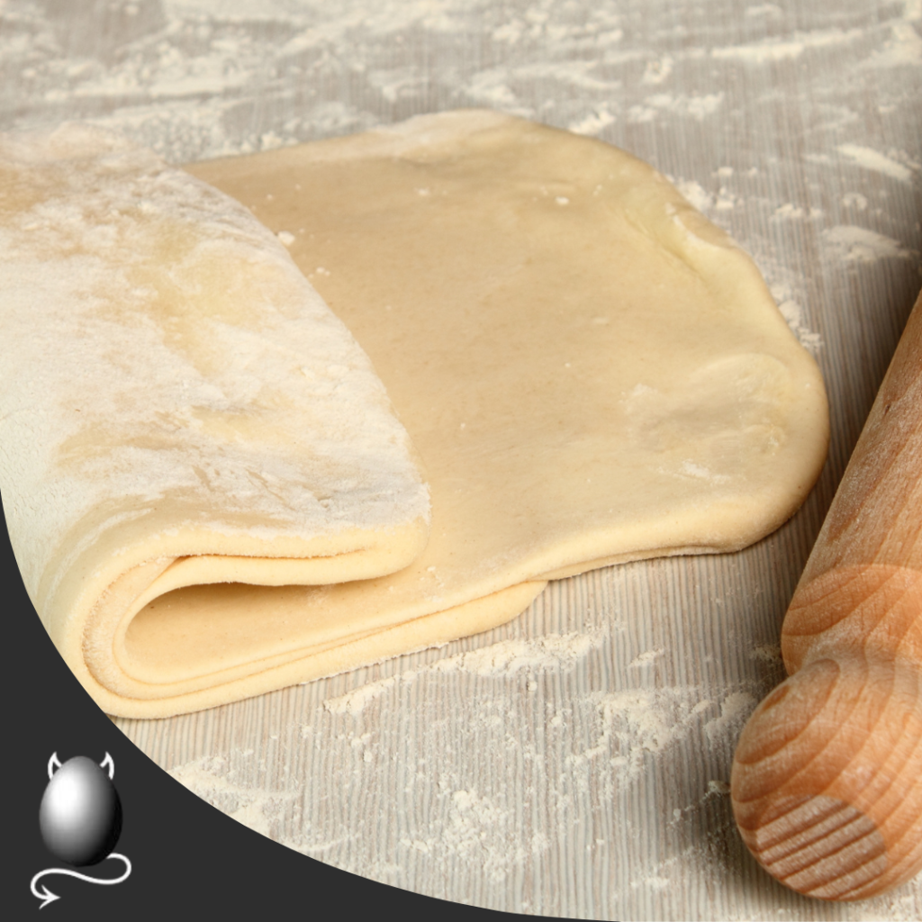
<svg viewBox="0 0 922 922">
<path fill-rule="evenodd" d="M 48 760 L 48 786 L 41 798 L 39 829 L 41 840 L 52 855 L 77 868 L 100 864 L 107 858 L 124 864 L 117 878 L 90 877 L 69 868 L 48 868 L 32 878 L 31 891 L 44 909 L 61 899 L 39 881 L 52 874 L 64 874 L 88 883 L 113 884 L 127 880 L 131 862 L 112 849 L 122 832 L 122 802 L 112 784 L 115 763 L 107 752 L 100 764 L 77 755 L 63 765 L 57 752 Z"/>
</svg>

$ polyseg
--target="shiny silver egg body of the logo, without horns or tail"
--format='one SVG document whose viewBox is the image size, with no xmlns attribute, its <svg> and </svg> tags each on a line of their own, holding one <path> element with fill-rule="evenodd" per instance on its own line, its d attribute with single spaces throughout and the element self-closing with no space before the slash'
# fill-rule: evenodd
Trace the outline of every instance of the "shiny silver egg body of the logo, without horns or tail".
<svg viewBox="0 0 922 922">
<path fill-rule="evenodd" d="M 108 857 L 122 832 L 122 804 L 109 775 L 86 756 L 68 759 L 45 788 L 39 827 L 45 847 L 68 864 Z"/>
</svg>

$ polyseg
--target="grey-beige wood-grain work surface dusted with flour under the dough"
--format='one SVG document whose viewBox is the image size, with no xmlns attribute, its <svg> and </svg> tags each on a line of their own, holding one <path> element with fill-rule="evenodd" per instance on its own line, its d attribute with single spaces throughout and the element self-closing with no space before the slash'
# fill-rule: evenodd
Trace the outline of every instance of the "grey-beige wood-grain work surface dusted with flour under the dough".
<svg viewBox="0 0 922 922">
<path fill-rule="evenodd" d="M 442 649 L 117 721 L 138 747 L 278 842 L 458 902 L 922 917 L 922 879 L 864 904 L 786 891 L 727 793 L 922 285 L 920 0 L 6 0 L 0 71 L 0 130 L 86 118 L 176 163 L 462 106 L 601 137 L 752 254 L 831 398 L 820 483 L 755 547 L 587 573 Z"/>
</svg>

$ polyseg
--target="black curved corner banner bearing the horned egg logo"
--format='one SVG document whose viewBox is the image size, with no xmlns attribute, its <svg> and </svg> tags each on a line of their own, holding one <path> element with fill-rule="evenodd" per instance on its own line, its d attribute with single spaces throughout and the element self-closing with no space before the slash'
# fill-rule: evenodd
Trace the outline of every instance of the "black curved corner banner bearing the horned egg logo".
<svg viewBox="0 0 922 922">
<path fill-rule="evenodd" d="M 124 737 L 65 666 L 26 594 L 5 522 L 0 573 L 6 918 L 513 917 L 325 865 L 195 797 Z M 86 814 L 76 820 L 75 791 Z M 88 835 L 108 857 L 81 866 Z"/>
</svg>

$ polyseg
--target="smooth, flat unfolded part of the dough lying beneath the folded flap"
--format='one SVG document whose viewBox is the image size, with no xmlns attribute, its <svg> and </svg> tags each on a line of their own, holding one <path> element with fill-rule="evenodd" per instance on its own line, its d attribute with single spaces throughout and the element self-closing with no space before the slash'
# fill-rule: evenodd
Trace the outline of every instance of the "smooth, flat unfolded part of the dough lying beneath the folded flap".
<svg viewBox="0 0 922 922">
<path fill-rule="evenodd" d="M 187 169 L 289 245 L 368 353 L 420 453 L 431 534 L 395 573 L 325 585 L 220 582 L 190 558 L 194 585 L 85 632 L 84 658 L 116 651 L 113 713 L 483 631 L 551 578 L 738 550 L 819 475 L 822 380 L 758 270 L 616 148 L 451 112 Z"/>
</svg>

